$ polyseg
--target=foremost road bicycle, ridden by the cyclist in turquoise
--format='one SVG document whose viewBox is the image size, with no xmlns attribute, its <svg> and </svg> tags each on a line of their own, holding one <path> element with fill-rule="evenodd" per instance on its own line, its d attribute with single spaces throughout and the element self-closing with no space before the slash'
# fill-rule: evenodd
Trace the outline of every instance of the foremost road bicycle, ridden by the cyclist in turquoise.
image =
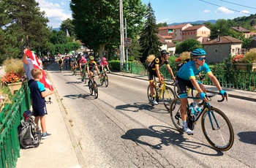
<svg viewBox="0 0 256 168">
<path fill-rule="evenodd" d="M 195 123 L 201 117 L 201 127 L 203 134 L 209 144 L 221 151 L 229 150 L 234 142 L 234 132 L 233 127 L 228 120 L 227 116 L 221 110 L 212 107 L 210 104 L 211 97 L 214 95 L 207 94 L 206 97 L 208 102 L 204 102 L 200 106 L 200 112 L 192 114 L 189 110 L 189 102 L 187 104 L 187 124 L 189 129 L 193 130 L 195 128 Z M 197 97 L 188 96 L 188 99 L 200 99 Z M 224 97 L 217 102 L 223 102 Z M 183 124 L 181 120 L 181 99 L 173 99 L 170 104 L 170 118 L 173 121 L 174 126 L 178 131 L 183 131 Z"/>
</svg>

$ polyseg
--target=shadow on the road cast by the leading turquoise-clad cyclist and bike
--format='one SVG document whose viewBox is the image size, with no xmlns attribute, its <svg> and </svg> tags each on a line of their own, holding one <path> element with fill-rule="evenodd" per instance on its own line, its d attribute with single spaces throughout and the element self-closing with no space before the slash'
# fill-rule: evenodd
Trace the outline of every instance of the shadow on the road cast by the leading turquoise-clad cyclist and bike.
<svg viewBox="0 0 256 168">
<path fill-rule="evenodd" d="M 180 148 L 185 150 L 189 150 L 194 153 L 203 154 L 206 156 L 222 156 L 223 153 L 211 148 L 210 146 L 200 143 L 200 142 L 192 142 L 189 139 L 186 139 L 182 132 L 176 133 L 175 129 L 171 129 L 167 126 L 149 126 L 148 129 L 130 129 L 126 132 L 126 134 L 122 135 L 121 138 L 125 140 L 132 140 L 141 145 L 150 146 L 153 149 L 161 150 L 163 145 L 177 145 Z M 152 137 L 160 140 L 160 143 L 157 145 L 153 145 Z M 150 140 L 150 142 L 149 142 Z M 159 141 L 157 141 L 159 142 Z M 202 146 L 206 146 L 214 150 L 214 153 L 203 153 L 203 150 L 198 150 L 202 148 Z M 216 153 L 215 153 L 216 152 Z"/>
</svg>

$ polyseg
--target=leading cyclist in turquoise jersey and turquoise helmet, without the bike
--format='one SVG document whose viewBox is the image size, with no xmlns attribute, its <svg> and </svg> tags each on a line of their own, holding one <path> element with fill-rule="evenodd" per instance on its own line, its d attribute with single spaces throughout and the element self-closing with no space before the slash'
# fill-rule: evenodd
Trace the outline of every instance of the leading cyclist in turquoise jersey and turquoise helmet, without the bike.
<svg viewBox="0 0 256 168">
<path fill-rule="evenodd" d="M 205 72 L 206 75 L 211 79 L 212 83 L 218 88 L 219 93 L 222 96 L 225 96 L 226 99 L 228 98 L 227 92 L 223 91 L 221 86 L 219 85 L 219 81 L 213 75 L 211 70 L 209 69 L 208 65 L 206 64 L 206 51 L 202 48 L 197 48 L 192 51 L 190 54 L 192 61 L 187 62 L 184 64 L 181 69 L 177 72 L 176 77 L 176 84 L 180 90 L 178 94 L 181 98 L 181 119 L 183 123 L 183 129 L 187 134 L 193 134 L 193 131 L 189 129 L 187 126 L 187 90 L 186 86 L 189 88 L 195 88 L 197 90 L 197 97 L 200 96 L 200 99 L 204 101 L 208 101 L 206 99 L 206 88 L 200 82 L 195 79 L 195 76 L 198 75 L 200 72 Z M 197 107 L 197 102 L 200 100 L 193 102 L 189 106 L 189 110 L 200 111 L 200 108 Z"/>
</svg>

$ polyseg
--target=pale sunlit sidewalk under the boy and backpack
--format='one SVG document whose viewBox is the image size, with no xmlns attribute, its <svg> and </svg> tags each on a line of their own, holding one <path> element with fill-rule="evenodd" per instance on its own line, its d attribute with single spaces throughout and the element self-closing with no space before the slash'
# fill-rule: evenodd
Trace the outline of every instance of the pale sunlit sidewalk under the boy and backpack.
<svg viewBox="0 0 256 168">
<path fill-rule="evenodd" d="M 86 167 L 57 92 L 48 97 L 51 98 L 53 103 L 46 104 L 48 111 L 46 128 L 52 136 L 42 140 L 38 148 L 20 149 L 20 158 L 18 158 L 16 168 Z M 46 101 L 48 101 L 48 97 L 45 98 Z"/>
</svg>

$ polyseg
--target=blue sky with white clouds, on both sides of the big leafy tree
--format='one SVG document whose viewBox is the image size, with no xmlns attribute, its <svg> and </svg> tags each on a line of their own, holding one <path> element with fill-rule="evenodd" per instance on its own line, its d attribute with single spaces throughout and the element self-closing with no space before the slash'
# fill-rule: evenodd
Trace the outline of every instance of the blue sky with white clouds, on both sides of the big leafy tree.
<svg viewBox="0 0 256 168">
<path fill-rule="evenodd" d="M 58 28 L 72 19 L 69 0 L 36 0 L 50 22 Z M 97 0 L 95 0 L 97 1 Z M 150 1 L 157 23 L 184 23 L 197 20 L 233 19 L 256 13 L 256 0 L 141 0 Z"/>
</svg>

